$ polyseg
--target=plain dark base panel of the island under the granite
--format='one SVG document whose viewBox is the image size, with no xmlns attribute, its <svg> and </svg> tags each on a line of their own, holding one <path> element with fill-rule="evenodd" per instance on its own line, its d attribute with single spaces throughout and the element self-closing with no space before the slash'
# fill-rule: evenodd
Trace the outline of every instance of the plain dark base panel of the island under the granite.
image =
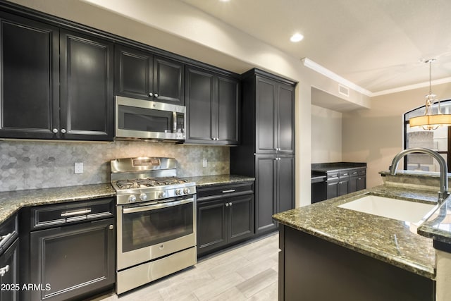
<svg viewBox="0 0 451 301">
<path fill-rule="evenodd" d="M 435 281 L 289 226 L 279 232 L 278 300 L 435 300 Z"/>
</svg>

